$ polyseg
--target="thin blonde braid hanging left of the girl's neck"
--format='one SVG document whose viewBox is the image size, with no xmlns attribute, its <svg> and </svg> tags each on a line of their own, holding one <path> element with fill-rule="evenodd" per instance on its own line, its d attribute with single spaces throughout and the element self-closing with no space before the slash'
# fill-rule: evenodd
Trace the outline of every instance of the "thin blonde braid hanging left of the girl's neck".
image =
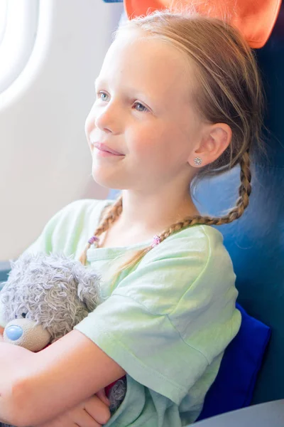
<svg viewBox="0 0 284 427">
<path fill-rule="evenodd" d="M 94 243 L 94 241 L 97 241 L 98 237 L 102 233 L 104 233 L 104 231 L 107 231 L 109 229 L 111 224 L 116 221 L 116 218 L 119 218 L 121 211 L 122 211 L 122 196 L 120 195 L 116 199 L 116 201 L 113 205 L 107 206 L 107 209 L 102 214 L 102 218 L 101 218 L 101 221 L 99 223 L 99 226 L 94 231 L 94 236 L 89 239 L 87 246 L 84 248 L 84 251 L 80 255 L 79 260 L 83 265 L 86 265 L 87 251 L 91 247 L 92 243 Z"/>
</svg>

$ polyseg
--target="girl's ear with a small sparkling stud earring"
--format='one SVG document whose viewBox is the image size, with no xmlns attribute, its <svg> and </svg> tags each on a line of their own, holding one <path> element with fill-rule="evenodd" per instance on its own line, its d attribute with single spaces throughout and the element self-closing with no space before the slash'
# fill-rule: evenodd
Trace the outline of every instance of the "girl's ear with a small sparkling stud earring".
<svg viewBox="0 0 284 427">
<path fill-rule="evenodd" d="M 190 166 L 202 167 L 218 159 L 231 142 L 231 127 L 226 123 L 209 125 L 204 131 L 200 144 L 190 154 Z M 201 163 L 196 162 L 201 159 Z"/>
</svg>

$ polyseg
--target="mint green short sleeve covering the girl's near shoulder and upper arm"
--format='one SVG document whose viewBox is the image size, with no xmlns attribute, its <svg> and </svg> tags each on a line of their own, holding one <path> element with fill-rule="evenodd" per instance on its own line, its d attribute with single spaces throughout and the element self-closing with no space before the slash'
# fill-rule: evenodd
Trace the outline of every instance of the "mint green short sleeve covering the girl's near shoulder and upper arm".
<svg viewBox="0 0 284 427">
<path fill-rule="evenodd" d="M 133 379 L 180 404 L 222 355 L 241 318 L 220 242 L 203 233 L 163 243 L 75 329 Z"/>
</svg>

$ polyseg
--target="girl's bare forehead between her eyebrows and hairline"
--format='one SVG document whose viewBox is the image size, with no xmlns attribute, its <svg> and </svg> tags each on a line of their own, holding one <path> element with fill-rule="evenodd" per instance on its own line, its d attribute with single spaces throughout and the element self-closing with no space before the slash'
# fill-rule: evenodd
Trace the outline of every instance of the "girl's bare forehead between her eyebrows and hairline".
<svg viewBox="0 0 284 427">
<path fill-rule="evenodd" d="M 140 31 L 123 31 L 111 44 L 99 76 L 114 85 L 126 84 L 156 97 L 179 92 L 187 97 L 192 87 L 190 61 L 166 41 Z"/>
</svg>

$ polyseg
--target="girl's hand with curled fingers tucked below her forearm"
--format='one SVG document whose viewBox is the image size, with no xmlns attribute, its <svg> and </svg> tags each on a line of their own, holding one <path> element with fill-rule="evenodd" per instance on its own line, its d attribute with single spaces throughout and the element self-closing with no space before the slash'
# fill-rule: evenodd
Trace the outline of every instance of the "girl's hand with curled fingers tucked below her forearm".
<svg viewBox="0 0 284 427">
<path fill-rule="evenodd" d="M 102 389 L 75 408 L 37 427 L 101 427 L 110 417 L 109 399 Z"/>
</svg>

